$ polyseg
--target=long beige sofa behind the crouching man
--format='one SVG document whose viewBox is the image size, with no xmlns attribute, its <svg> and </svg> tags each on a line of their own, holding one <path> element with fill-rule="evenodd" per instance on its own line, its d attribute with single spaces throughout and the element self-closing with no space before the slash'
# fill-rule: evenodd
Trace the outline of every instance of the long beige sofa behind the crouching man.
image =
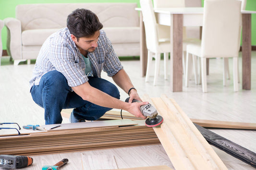
<svg viewBox="0 0 256 170">
<path fill-rule="evenodd" d="M 97 14 L 103 30 L 118 56 L 138 56 L 139 15 L 136 3 L 48 3 L 16 6 L 16 18 L 6 18 L 7 52 L 14 65 L 36 59 L 38 52 L 53 32 L 66 27 L 67 16 L 77 8 Z"/>
</svg>

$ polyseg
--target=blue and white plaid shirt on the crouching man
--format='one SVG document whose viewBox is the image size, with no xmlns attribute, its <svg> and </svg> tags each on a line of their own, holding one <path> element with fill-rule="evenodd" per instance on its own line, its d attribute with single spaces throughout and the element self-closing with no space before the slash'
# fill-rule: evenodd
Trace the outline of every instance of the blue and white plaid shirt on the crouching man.
<svg viewBox="0 0 256 170">
<path fill-rule="evenodd" d="M 98 47 L 87 56 L 92 64 L 92 74 L 88 76 L 100 77 L 102 70 L 108 76 L 113 76 L 123 68 L 103 30 L 100 30 Z M 30 86 L 39 85 L 42 75 L 52 70 L 61 72 L 70 87 L 82 85 L 88 81 L 85 75 L 85 61 L 71 39 L 68 28 L 53 33 L 42 45 L 33 71 L 33 78 L 29 81 Z"/>
</svg>

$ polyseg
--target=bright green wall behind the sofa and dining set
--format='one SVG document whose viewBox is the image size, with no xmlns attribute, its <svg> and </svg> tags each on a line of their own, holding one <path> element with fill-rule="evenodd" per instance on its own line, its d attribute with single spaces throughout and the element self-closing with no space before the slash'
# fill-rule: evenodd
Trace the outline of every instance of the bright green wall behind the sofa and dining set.
<svg viewBox="0 0 256 170">
<path fill-rule="evenodd" d="M 15 17 L 15 7 L 18 4 L 31 3 L 91 3 L 91 2 L 132 2 L 139 0 L 0 0 L 0 20 L 7 17 Z M 203 2 L 203 0 L 202 0 Z M 247 0 L 246 10 L 256 11 L 256 0 Z M 6 27 L 2 29 L 3 49 L 6 50 Z M 256 14 L 252 14 L 252 45 L 256 45 Z"/>
</svg>

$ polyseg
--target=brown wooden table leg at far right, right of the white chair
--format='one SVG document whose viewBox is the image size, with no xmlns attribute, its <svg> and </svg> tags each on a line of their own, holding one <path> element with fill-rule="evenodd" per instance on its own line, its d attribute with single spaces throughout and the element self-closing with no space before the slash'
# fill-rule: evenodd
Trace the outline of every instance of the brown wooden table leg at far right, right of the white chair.
<svg viewBox="0 0 256 170">
<path fill-rule="evenodd" d="M 251 90 L 251 14 L 242 14 L 242 21 L 242 82 L 244 90 Z"/>
</svg>

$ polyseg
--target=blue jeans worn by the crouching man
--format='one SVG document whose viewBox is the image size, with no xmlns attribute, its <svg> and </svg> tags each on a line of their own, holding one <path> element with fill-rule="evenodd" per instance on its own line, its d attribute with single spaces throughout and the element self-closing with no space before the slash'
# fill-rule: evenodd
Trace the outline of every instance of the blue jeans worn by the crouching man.
<svg viewBox="0 0 256 170">
<path fill-rule="evenodd" d="M 98 77 L 88 78 L 91 86 L 120 99 L 118 88 L 109 81 Z M 56 70 L 44 74 L 39 85 L 33 85 L 30 92 L 37 105 L 45 109 L 46 125 L 61 123 L 61 110 L 66 108 L 74 108 L 73 115 L 85 120 L 97 120 L 112 109 L 83 100 L 71 91 L 67 79 Z"/>
</svg>

